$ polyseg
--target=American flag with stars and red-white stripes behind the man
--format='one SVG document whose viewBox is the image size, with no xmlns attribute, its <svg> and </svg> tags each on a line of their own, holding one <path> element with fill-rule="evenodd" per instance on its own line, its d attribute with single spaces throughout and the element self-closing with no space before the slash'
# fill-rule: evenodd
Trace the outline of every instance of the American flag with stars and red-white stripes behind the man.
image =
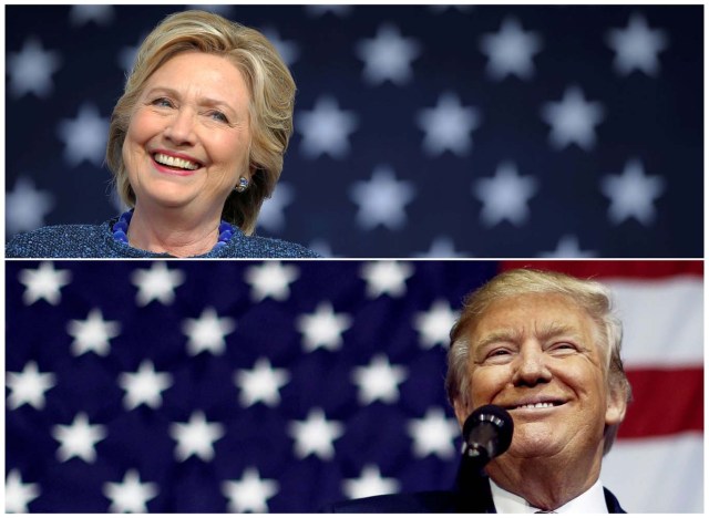
<svg viewBox="0 0 709 518">
<path fill-rule="evenodd" d="M 702 512 L 702 262 L 526 265 L 616 297 L 635 401 L 604 484 L 628 511 Z M 448 332 L 517 266 L 7 261 L 7 510 L 314 511 L 449 488 Z"/>
</svg>

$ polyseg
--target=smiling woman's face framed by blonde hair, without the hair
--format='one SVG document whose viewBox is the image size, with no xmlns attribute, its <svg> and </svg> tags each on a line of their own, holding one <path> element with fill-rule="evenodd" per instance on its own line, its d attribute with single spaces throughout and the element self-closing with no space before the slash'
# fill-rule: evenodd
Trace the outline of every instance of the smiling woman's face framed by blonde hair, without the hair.
<svg viewBox="0 0 709 518">
<path fill-rule="evenodd" d="M 249 102 L 242 73 L 226 58 L 185 52 L 157 69 L 123 143 L 136 206 L 220 215 L 239 176 L 250 179 Z"/>
</svg>

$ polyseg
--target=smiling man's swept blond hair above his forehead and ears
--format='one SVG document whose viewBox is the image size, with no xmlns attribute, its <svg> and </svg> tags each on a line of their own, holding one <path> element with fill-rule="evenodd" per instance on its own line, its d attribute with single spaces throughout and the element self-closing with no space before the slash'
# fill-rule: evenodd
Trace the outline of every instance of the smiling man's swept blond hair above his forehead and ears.
<svg viewBox="0 0 709 518">
<path fill-rule="evenodd" d="M 445 388 L 451 404 L 456 401 L 469 406 L 469 335 L 484 317 L 490 305 L 501 299 L 530 293 L 555 293 L 568 297 L 583 308 L 596 324 L 597 346 L 605 360 L 609 391 L 619 391 L 626 403 L 630 402 L 630 383 L 620 360 L 623 324 L 613 314 L 610 291 L 599 282 L 582 280 L 555 271 L 516 269 L 501 273 L 465 298 L 461 318 L 451 329 L 451 346 L 448 352 Z M 608 453 L 620 425 L 607 426 L 604 454 Z"/>
</svg>

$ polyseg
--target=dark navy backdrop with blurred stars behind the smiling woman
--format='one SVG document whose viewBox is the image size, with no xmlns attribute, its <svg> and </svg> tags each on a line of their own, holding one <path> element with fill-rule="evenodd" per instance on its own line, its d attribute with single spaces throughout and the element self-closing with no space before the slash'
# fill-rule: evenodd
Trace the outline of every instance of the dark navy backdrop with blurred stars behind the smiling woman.
<svg viewBox="0 0 709 518">
<path fill-rule="evenodd" d="M 4 7 L 8 237 L 119 214 L 109 117 L 187 7 Z M 204 8 L 298 84 L 259 234 L 326 257 L 702 257 L 703 6 Z"/>
</svg>

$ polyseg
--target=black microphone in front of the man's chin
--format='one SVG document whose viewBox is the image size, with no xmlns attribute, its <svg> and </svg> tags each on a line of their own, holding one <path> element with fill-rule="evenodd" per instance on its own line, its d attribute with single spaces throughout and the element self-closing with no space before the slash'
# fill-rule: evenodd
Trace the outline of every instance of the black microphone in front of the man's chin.
<svg viewBox="0 0 709 518">
<path fill-rule="evenodd" d="M 510 413 L 496 405 L 476 408 L 463 425 L 463 462 L 472 460 L 481 469 L 502 455 L 512 443 L 514 424 Z"/>
</svg>

